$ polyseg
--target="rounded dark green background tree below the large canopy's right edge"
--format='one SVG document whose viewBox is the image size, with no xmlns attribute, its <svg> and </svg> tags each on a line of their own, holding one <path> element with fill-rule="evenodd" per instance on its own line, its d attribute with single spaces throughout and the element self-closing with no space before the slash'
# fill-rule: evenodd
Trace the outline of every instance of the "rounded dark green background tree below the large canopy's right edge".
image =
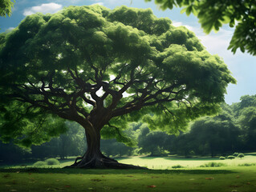
<svg viewBox="0 0 256 192">
<path fill-rule="evenodd" d="M 234 151 L 238 148 L 240 134 L 238 126 L 229 114 L 222 113 L 214 118 L 205 117 L 194 122 L 189 132 L 189 138 L 197 154 L 216 155 Z"/>
</svg>

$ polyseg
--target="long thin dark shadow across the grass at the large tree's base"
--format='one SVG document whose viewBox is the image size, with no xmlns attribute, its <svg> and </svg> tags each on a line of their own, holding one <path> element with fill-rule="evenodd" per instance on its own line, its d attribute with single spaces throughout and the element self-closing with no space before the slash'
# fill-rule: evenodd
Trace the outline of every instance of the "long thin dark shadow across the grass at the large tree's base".
<svg viewBox="0 0 256 192">
<path fill-rule="evenodd" d="M 0 169 L 0 173 L 37 174 L 233 174 L 232 170 L 104 170 L 75 168 L 10 168 Z"/>
</svg>

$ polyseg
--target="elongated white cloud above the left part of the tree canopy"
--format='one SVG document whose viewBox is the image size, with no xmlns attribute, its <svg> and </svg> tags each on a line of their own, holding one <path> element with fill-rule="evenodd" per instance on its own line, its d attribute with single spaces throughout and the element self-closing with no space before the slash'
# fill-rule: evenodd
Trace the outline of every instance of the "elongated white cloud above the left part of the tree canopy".
<svg viewBox="0 0 256 192">
<path fill-rule="evenodd" d="M 61 10 L 63 8 L 62 5 L 57 4 L 55 2 L 50 2 L 50 3 L 43 3 L 40 6 L 32 6 L 26 10 L 24 10 L 23 15 L 27 16 L 30 14 L 35 14 L 37 12 L 43 13 L 43 14 L 54 14 L 58 10 Z"/>
</svg>

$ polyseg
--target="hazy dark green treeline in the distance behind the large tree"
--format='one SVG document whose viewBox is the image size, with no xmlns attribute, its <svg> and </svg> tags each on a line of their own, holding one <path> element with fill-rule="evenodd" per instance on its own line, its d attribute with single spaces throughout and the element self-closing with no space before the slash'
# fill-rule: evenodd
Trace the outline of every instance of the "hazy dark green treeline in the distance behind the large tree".
<svg viewBox="0 0 256 192">
<path fill-rule="evenodd" d="M 86 150 L 84 131 L 78 124 L 67 122 L 66 134 L 41 146 L 22 149 L 14 144 L 0 143 L 0 162 L 22 162 L 44 158 L 67 158 Z M 125 146 L 116 139 L 102 139 L 101 150 L 108 156 L 136 154 L 226 155 L 256 150 L 256 95 L 242 96 L 241 102 L 221 105 L 217 116 L 192 122 L 188 131 L 169 135 L 149 130 L 146 124 L 134 122 L 124 134 L 132 137 L 136 146 Z"/>
</svg>

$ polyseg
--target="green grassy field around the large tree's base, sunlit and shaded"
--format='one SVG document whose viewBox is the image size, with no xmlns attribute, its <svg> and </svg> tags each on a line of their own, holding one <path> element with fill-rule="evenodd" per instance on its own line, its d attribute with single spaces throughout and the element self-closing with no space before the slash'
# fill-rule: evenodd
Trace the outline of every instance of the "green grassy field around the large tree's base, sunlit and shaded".
<svg viewBox="0 0 256 192">
<path fill-rule="evenodd" d="M 238 166 L 255 163 L 254 154 L 224 161 L 214 158 L 132 157 L 119 159 L 119 162 L 150 169 L 153 166 L 153 170 L 8 168 L 0 170 L 0 191 L 256 191 L 256 166 Z M 223 162 L 226 166 L 199 167 L 207 162 Z M 67 164 L 71 162 L 60 166 Z M 171 168 L 177 165 L 185 168 Z"/>
</svg>

